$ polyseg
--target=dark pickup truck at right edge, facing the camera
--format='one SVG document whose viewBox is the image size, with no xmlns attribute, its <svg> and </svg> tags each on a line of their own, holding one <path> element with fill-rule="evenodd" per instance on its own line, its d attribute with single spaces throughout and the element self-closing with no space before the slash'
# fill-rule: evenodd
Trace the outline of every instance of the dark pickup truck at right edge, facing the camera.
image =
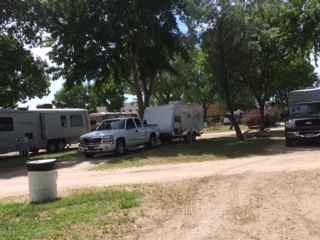
<svg viewBox="0 0 320 240">
<path fill-rule="evenodd" d="M 292 106 L 285 123 L 286 146 L 295 141 L 320 140 L 320 101 L 300 102 Z"/>
</svg>

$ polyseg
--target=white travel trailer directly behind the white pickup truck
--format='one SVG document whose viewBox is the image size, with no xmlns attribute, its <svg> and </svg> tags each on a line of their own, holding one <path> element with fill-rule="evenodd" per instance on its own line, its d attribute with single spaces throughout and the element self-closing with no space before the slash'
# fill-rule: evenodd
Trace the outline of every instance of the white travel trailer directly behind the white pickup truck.
<svg viewBox="0 0 320 240">
<path fill-rule="evenodd" d="M 195 141 L 203 130 L 203 108 L 197 104 L 185 104 L 181 101 L 168 105 L 147 107 L 143 120 L 147 124 L 158 124 L 160 141 L 171 142 L 173 138 Z"/>
</svg>

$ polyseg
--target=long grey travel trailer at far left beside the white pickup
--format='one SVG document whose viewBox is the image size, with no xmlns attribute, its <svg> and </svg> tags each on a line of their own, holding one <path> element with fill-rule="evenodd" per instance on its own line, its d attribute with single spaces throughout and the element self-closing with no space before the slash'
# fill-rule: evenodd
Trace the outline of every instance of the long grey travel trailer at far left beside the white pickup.
<svg viewBox="0 0 320 240">
<path fill-rule="evenodd" d="M 89 131 L 86 109 L 0 109 L 0 154 L 63 150 Z"/>
</svg>

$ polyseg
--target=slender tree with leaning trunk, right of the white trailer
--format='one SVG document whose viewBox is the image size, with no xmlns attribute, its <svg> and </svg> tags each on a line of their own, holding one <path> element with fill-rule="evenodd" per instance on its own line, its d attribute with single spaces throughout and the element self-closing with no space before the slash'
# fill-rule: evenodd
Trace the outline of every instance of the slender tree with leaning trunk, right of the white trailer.
<svg viewBox="0 0 320 240">
<path fill-rule="evenodd" d="M 209 7 L 206 7 L 208 9 Z M 210 9 L 209 9 L 210 10 Z M 248 67 L 250 52 L 247 46 L 250 42 L 250 25 L 246 22 L 245 8 L 232 1 L 221 1 L 211 5 L 204 19 L 207 28 L 202 34 L 202 48 L 207 54 L 210 70 L 216 75 L 221 87 L 222 97 L 230 111 L 230 120 L 238 139 L 243 139 L 242 132 L 234 116 L 236 103 L 233 96 L 239 96 L 241 82 L 236 81 L 239 71 Z M 201 21 L 204 21 L 201 19 Z"/>
</svg>

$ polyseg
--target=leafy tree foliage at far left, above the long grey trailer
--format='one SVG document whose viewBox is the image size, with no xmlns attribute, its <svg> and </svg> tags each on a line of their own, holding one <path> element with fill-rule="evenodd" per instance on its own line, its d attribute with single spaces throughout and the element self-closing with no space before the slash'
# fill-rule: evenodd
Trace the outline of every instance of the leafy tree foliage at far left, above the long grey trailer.
<svg viewBox="0 0 320 240">
<path fill-rule="evenodd" d="M 41 42 L 41 1 L 0 2 L 0 106 L 14 108 L 49 93 L 47 63 L 28 49 Z"/>
</svg>

